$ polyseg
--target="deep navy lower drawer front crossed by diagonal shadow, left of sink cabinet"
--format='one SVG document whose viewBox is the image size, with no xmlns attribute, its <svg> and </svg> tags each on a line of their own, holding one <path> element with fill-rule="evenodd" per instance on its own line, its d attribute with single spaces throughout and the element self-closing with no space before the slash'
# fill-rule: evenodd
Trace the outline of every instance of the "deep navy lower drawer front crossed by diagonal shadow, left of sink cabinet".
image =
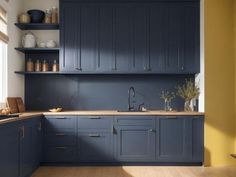
<svg viewBox="0 0 236 177">
<path fill-rule="evenodd" d="M 113 159 L 110 132 L 79 132 L 78 160 L 80 162 L 111 162 Z"/>
</svg>

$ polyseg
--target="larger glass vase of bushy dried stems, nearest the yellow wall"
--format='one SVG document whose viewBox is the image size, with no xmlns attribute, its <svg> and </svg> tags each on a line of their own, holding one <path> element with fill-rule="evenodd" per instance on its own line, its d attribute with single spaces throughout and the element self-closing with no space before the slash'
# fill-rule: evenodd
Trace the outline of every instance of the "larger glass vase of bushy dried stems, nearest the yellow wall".
<svg viewBox="0 0 236 177">
<path fill-rule="evenodd" d="M 192 79 L 185 80 L 182 86 L 176 87 L 176 95 L 184 99 L 184 111 L 193 111 L 193 100 L 196 99 L 200 94 L 199 87 L 195 84 Z"/>
</svg>

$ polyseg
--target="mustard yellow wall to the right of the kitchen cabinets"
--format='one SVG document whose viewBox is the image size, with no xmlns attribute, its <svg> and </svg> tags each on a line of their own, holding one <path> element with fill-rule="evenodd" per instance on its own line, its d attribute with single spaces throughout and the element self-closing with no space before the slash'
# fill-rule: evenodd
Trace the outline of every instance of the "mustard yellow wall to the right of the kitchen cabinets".
<svg viewBox="0 0 236 177">
<path fill-rule="evenodd" d="M 233 0 L 205 0 L 205 162 L 236 165 Z"/>
</svg>

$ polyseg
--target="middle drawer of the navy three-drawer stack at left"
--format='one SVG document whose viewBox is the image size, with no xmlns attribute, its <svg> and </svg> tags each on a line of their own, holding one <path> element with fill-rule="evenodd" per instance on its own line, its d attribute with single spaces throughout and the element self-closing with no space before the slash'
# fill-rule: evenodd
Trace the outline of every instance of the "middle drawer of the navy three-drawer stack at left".
<svg viewBox="0 0 236 177">
<path fill-rule="evenodd" d="M 45 146 L 75 146 L 76 133 L 75 132 L 50 132 L 45 134 Z"/>
</svg>

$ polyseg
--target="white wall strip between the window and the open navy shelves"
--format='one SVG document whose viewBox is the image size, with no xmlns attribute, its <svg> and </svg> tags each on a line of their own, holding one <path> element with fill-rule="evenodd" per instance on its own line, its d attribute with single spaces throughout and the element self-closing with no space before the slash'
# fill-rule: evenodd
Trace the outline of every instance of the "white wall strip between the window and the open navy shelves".
<svg viewBox="0 0 236 177">
<path fill-rule="evenodd" d="M 7 10 L 8 14 L 7 96 L 24 98 L 24 77 L 14 73 L 24 69 L 24 55 L 14 49 L 20 45 L 21 31 L 14 23 L 17 21 L 17 15 L 22 12 L 22 2 L 23 0 L 9 0 L 9 2 L 0 0 L 0 5 Z"/>
</svg>

